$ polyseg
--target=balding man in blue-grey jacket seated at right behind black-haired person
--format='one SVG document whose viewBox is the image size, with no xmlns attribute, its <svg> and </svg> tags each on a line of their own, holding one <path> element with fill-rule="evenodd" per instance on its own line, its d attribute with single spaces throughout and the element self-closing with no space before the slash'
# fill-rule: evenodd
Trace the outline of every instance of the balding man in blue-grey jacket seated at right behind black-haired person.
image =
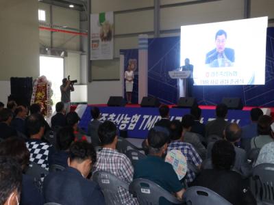
<svg viewBox="0 0 274 205">
<path fill-rule="evenodd" d="M 232 143 L 236 152 L 235 163 L 233 169 L 240 172 L 243 176 L 251 174 L 251 166 L 247 163 L 247 152 L 242 148 L 235 146 L 235 143 L 240 141 L 241 129 L 236 123 L 230 123 L 225 127 L 225 140 Z M 208 158 L 211 158 L 211 151 L 214 142 L 208 145 Z"/>
</svg>

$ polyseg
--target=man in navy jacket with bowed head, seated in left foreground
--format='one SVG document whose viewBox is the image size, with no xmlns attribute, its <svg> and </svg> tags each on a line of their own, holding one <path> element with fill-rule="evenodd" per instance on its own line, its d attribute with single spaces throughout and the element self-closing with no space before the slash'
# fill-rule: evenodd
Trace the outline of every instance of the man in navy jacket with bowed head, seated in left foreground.
<svg viewBox="0 0 274 205">
<path fill-rule="evenodd" d="M 66 205 L 105 204 L 99 185 L 86 179 L 95 162 L 96 152 L 91 143 L 73 143 L 69 149 L 69 167 L 50 173 L 44 180 L 45 201 Z"/>
</svg>

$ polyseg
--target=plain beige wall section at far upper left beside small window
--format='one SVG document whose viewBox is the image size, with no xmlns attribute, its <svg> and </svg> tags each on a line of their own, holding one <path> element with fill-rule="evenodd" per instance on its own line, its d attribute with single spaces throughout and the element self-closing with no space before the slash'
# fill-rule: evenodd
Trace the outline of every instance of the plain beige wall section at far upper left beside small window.
<svg viewBox="0 0 274 205">
<path fill-rule="evenodd" d="M 1 0 L 0 27 L 0 80 L 38 77 L 38 1 Z"/>
</svg>

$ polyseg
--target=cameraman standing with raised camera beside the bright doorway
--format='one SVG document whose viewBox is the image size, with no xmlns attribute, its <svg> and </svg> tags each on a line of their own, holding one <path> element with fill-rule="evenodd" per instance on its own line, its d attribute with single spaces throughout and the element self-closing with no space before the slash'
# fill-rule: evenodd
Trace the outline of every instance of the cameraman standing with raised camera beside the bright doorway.
<svg viewBox="0 0 274 205">
<path fill-rule="evenodd" d="M 64 109 L 66 113 L 71 111 L 71 92 L 74 91 L 73 83 L 69 79 L 63 79 L 63 84 L 60 86 L 61 101 L 64 103 Z"/>
</svg>

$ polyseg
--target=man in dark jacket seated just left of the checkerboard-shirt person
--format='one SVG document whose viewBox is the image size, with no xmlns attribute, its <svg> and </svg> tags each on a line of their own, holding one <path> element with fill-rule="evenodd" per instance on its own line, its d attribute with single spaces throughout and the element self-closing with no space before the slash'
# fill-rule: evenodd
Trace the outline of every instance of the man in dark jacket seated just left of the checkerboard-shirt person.
<svg viewBox="0 0 274 205">
<path fill-rule="evenodd" d="M 25 125 L 27 109 L 22 105 L 18 106 L 14 111 L 14 115 L 15 118 L 12 120 L 11 126 L 16 129 L 17 132 L 27 136 L 27 126 Z"/>
</svg>

